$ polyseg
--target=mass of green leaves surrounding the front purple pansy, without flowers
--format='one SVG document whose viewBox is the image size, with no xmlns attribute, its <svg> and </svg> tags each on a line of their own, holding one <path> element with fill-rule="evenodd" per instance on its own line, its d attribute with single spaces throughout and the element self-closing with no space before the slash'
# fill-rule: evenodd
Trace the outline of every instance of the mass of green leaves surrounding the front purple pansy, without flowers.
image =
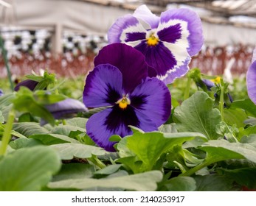
<svg viewBox="0 0 256 206">
<path fill-rule="evenodd" d="M 44 78 L 39 80 L 45 83 Z M 83 79 L 64 82 L 58 88 L 60 95 L 49 87 L 0 97 L 0 148 L 8 114 L 13 107 L 16 112 L 7 152 L 0 155 L 0 191 L 256 188 L 256 106 L 246 96 L 224 108 L 221 116 L 215 90 L 191 85 L 191 96 L 184 100 L 184 79 L 177 79 L 169 85 L 173 110 L 168 121 L 158 131 L 131 127 L 132 135 L 113 135 L 110 141 L 117 142 L 117 152 L 106 152 L 86 134 L 88 118 L 101 108 L 66 120 L 55 120 L 42 109 L 65 96 L 80 98 L 77 85 L 83 87 Z M 42 126 L 41 118 L 50 124 Z"/>
</svg>

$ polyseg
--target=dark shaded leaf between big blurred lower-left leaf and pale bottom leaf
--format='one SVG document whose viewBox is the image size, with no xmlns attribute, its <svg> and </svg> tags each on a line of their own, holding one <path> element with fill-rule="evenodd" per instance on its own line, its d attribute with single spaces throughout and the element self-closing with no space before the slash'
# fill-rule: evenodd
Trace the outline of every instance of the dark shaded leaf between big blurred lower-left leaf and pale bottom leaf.
<svg viewBox="0 0 256 206">
<path fill-rule="evenodd" d="M 52 181 L 80 179 L 85 177 L 92 177 L 94 173 L 94 166 L 89 164 L 69 163 L 63 164 L 58 174 L 53 176 Z"/>
</svg>

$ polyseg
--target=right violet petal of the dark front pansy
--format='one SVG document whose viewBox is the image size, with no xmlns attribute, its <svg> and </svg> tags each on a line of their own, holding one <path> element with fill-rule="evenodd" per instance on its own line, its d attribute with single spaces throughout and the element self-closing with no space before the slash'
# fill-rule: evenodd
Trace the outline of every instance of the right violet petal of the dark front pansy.
<svg viewBox="0 0 256 206">
<path fill-rule="evenodd" d="M 170 91 L 159 79 L 147 78 L 131 93 L 131 106 L 159 127 L 170 116 Z"/>
</svg>

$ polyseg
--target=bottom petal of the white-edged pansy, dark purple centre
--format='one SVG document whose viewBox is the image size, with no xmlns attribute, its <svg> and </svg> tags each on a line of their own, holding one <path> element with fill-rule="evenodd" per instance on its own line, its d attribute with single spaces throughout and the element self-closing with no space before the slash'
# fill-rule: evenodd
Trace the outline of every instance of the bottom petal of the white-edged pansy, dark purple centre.
<svg viewBox="0 0 256 206">
<path fill-rule="evenodd" d="M 159 42 L 156 46 L 148 46 L 144 42 L 135 48 L 145 54 L 148 65 L 156 69 L 157 77 L 166 84 L 170 84 L 177 77 L 182 77 L 188 71 L 190 55 L 179 45 Z"/>
</svg>

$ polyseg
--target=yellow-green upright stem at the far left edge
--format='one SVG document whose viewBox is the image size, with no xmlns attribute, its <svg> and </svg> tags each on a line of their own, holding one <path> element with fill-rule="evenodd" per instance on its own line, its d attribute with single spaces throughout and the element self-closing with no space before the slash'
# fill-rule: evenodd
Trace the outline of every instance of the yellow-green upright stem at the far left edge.
<svg viewBox="0 0 256 206">
<path fill-rule="evenodd" d="M 5 127 L 4 127 L 4 135 L 1 139 L 1 146 L 0 146 L 0 156 L 4 155 L 7 150 L 7 146 L 11 138 L 10 132 L 13 129 L 14 118 L 15 118 L 15 110 L 12 109 L 9 112 L 7 124 L 5 124 Z"/>
</svg>

